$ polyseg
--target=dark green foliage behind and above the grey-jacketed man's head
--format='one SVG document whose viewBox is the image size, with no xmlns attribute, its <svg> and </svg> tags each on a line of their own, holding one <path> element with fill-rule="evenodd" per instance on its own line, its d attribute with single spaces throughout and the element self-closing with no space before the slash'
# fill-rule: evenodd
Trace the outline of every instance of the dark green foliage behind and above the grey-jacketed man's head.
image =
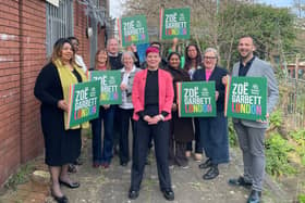
<svg viewBox="0 0 305 203">
<path fill-rule="evenodd" d="M 232 67 L 239 60 L 237 40 L 252 36 L 256 43 L 256 55 L 269 61 L 281 50 L 289 51 L 295 39 L 294 15 L 288 9 L 261 4 L 228 4 L 218 15 L 218 41 L 222 63 Z"/>
</svg>

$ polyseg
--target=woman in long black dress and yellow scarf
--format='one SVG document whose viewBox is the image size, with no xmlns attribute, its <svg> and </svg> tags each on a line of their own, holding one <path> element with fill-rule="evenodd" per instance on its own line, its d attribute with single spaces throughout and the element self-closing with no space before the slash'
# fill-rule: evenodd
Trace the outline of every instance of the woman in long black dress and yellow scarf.
<svg viewBox="0 0 305 203">
<path fill-rule="evenodd" d="M 81 153 L 81 126 L 65 129 L 69 111 L 70 85 L 87 80 L 74 61 L 75 51 L 68 39 L 61 38 L 53 46 L 50 62 L 40 71 L 34 94 L 41 102 L 41 128 L 45 138 L 46 158 L 51 176 L 51 194 L 57 202 L 68 202 L 60 183 L 78 188 L 68 175 L 68 166 Z"/>
</svg>

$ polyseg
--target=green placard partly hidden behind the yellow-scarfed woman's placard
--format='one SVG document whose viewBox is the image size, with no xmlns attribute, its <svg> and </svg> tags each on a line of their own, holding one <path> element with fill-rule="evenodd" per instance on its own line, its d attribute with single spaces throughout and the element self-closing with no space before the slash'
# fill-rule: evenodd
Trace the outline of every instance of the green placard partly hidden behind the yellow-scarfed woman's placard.
<svg viewBox="0 0 305 203">
<path fill-rule="evenodd" d="M 100 81 L 99 104 L 121 104 L 121 71 L 93 71 L 88 72 L 90 81 Z"/>
</svg>

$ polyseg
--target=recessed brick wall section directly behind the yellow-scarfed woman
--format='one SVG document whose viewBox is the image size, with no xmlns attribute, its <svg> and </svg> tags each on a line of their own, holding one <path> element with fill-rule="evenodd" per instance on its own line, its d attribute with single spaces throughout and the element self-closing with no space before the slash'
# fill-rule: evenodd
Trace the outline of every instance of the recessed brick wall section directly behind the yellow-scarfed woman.
<svg viewBox="0 0 305 203">
<path fill-rule="evenodd" d="M 46 3 L 21 4 L 21 162 L 42 152 L 39 105 L 33 96 L 38 72 L 46 63 Z"/>
</svg>

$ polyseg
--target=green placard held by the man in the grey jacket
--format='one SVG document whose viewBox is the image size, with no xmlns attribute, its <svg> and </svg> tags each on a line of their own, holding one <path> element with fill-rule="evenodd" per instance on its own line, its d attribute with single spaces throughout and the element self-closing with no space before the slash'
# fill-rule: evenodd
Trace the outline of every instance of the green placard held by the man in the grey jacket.
<svg viewBox="0 0 305 203">
<path fill-rule="evenodd" d="M 225 89 L 227 116 L 266 120 L 267 78 L 232 77 Z"/>
</svg>

